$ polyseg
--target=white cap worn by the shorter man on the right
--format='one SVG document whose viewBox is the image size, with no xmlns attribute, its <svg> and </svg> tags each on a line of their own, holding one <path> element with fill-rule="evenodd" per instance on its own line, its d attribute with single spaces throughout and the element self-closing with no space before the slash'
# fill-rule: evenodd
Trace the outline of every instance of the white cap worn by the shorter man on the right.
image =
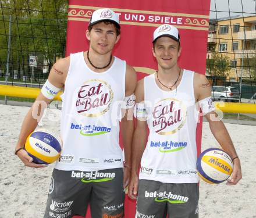
<svg viewBox="0 0 256 218">
<path fill-rule="evenodd" d="M 179 30 L 169 24 L 163 24 L 154 31 L 153 43 L 160 37 L 170 37 L 173 40 L 180 42 Z"/>
</svg>

